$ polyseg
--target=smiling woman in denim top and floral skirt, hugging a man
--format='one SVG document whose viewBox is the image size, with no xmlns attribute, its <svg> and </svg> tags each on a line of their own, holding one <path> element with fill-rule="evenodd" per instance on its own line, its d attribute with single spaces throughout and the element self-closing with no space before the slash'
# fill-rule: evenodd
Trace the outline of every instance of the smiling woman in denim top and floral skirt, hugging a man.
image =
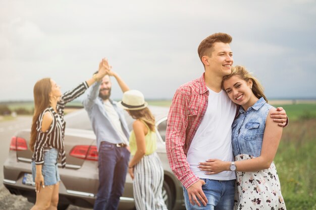
<svg viewBox="0 0 316 210">
<path fill-rule="evenodd" d="M 243 66 L 235 66 L 223 78 L 229 98 L 241 105 L 232 124 L 232 147 L 235 162 L 209 159 L 207 174 L 236 171 L 238 194 L 235 209 L 286 209 L 273 159 L 281 140 L 282 127 L 270 114 L 260 83 Z"/>
</svg>

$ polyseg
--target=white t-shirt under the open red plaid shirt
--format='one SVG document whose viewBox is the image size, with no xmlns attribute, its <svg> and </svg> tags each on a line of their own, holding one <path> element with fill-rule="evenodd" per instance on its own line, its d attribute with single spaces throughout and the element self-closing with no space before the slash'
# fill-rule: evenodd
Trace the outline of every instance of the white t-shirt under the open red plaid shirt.
<svg viewBox="0 0 316 210">
<path fill-rule="evenodd" d="M 236 179 L 235 172 L 223 171 L 218 174 L 206 175 L 197 168 L 199 162 L 208 159 L 233 161 L 232 123 L 236 114 L 236 105 L 229 99 L 226 92 L 216 93 L 209 88 L 208 105 L 205 115 L 190 145 L 187 161 L 190 169 L 199 178 L 214 180 Z"/>
</svg>

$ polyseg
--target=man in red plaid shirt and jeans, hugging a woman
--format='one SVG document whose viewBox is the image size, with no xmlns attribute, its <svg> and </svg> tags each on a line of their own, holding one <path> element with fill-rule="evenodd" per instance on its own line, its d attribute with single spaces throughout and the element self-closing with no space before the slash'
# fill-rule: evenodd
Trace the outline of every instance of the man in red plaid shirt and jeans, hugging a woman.
<svg viewBox="0 0 316 210">
<path fill-rule="evenodd" d="M 170 107 L 166 150 L 170 167 L 183 184 L 187 209 L 233 209 L 235 172 L 206 175 L 200 170 L 200 163 L 210 158 L 234 160 L 231 125 L 237 107 L 222 90 L 223 77 L 231 74 L 233 64 L 231 41 L 230 35 L 216 33 L 200 43 L 205 72 L 180 86 Z M 282 108 L 273 118 L 280 126 L 287 121 Z"/>
</svg>

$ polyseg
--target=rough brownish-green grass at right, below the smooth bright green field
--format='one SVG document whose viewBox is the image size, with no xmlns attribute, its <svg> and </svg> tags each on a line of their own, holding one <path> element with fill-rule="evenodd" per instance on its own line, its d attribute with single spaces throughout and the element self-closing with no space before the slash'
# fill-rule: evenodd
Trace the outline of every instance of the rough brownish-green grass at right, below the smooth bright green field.
<svg viewBox="0 0 316 210">
<path fill-rule="evenodd" d="M 288 210 L 316 209 L 316 119 L 290 119 L 274 159 Z"/>
</svg>

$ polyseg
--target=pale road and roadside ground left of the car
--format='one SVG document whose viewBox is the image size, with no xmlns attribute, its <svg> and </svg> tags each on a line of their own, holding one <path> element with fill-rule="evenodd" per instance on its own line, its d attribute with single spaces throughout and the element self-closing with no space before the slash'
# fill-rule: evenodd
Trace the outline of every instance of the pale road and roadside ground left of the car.
<svg viewBox="0 0 316 210">
<path fill-rule="evenodd" d="M 33 203 L 28 202 L 23 196 L 12 195 L 3 185 L 3 165 L 9 154 L 11 137 L 20 129 L 30 128 L 31 122 L 31 116 L 18 116 L 13 120 L 0 121 L 0 209 L 29 210 L 33 206 Z M 79 208 L 70 205 L 67 209 L 88 210 L 92 208 Z"/>
</svg>

